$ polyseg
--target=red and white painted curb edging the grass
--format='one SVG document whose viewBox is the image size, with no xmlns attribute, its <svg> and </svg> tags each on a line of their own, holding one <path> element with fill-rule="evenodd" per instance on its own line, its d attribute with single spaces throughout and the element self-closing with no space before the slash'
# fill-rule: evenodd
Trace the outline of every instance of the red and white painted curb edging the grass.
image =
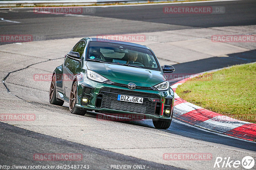
<svg viewBox="0 0 256 170">
<path fill-rule="evenodd" d="M 219 113 L 206 110 L 189 103 L 175 93 L 176 88 L 189 79 L 200 75 L 195 74 L 171 85 L 174 91 L 173 117 L 198 127 L 225 135 L 256 141 L 256 124 L 237 120 Z"/>
</svg>

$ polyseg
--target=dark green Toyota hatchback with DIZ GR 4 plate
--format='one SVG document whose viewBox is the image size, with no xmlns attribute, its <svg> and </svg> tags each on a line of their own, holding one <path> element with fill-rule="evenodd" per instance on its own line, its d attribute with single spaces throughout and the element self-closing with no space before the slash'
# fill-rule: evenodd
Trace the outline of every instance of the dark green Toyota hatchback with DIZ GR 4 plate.
<svg viewBox="0 0 256 170">
<path fill-rule="evenodd" d="M 52 74 L 51 104 L 69 103 L 73 114 L 136 115 L 152 119 L 158 129 L 172 122 L 174 93 L 156 55 L 147 46 L 83 38 Z M 132 119 L 131 119 L 132 120 Z"/>
</svg>

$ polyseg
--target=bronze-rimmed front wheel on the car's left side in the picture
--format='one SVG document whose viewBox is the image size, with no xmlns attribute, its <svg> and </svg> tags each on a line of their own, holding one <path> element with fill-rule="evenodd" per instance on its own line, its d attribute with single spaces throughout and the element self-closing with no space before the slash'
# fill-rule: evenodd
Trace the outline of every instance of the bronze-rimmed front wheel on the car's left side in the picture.
<svg viewBox="0 0 256 170">
<path fill-rule="evenodd" d="M 77 98 L 77 82 L 74 82 L 72 85 L 70 96 L 69 96 L 69 110 L 72 114 L 84 116 L 86 110 L 81 110 L 79 107 L 76 107 L 76 98 Z"/>
</svg>

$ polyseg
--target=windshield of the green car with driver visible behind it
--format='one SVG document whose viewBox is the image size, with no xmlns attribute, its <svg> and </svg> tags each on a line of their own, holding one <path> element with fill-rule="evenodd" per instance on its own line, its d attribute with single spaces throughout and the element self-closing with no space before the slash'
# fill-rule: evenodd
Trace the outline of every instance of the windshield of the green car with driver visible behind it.
<svg viewBox="0 0 256 170">
<path fill-rule="evenodd" d="M 86 58 L 90 61 L 102 61 L 160 71 L 150 50 L 134 46 L 91 41 Z"/>
</svg>

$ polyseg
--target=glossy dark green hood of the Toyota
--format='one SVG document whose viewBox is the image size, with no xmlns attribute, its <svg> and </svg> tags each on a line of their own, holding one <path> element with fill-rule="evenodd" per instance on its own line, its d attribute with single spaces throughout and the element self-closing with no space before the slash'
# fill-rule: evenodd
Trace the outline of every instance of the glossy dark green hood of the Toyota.
<svg viewBox="0 0 256 170">
<path fill-rule="evenodd" d="M 163 72 L 88 61 L 86 66 L 89 70 L 106 77 L 107 79 L 122 84 L 134 83 L 136 86 L 151 87 L 166 81 Z"/>
</svg>

